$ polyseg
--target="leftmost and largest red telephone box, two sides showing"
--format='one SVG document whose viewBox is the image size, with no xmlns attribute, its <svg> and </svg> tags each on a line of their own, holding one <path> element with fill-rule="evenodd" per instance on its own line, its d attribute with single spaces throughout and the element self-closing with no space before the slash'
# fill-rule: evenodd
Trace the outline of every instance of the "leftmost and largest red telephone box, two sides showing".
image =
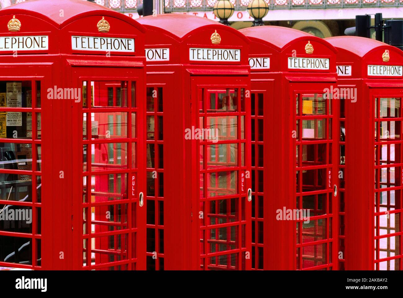
<svg viewBox="0 0 403 298">
<path fill-rule="evenodd" d="M 0 222 L 0 266 L 145 269 L 144 27 L 82 0 L 0 24 L 0 211 L 32 212 Z"/>
</svg>

